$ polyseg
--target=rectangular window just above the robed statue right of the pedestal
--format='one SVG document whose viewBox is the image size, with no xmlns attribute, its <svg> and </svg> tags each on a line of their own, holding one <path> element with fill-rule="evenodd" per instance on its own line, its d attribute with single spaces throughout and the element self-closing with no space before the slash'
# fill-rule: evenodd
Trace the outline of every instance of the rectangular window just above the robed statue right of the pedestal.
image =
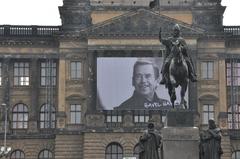
<svg viewBox="0 0 240 159">
<path fill-rule="evenodd" d="M 208 124 L 209 119 L 214 119 L 214 107 L 211 104 L 205 104 L 202 110 L 202 124 Z"/>
</svg>

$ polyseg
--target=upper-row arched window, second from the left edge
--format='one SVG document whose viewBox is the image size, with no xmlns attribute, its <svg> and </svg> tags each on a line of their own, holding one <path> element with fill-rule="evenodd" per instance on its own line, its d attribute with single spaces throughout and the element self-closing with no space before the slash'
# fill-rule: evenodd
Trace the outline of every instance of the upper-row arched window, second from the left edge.
<svg viewBox="0 0 240 159">
<path fill-rule="evenodd" d="M 40 128 L 55 128 L 55 123 L 55 108 L 50 107 L 49 104 L 44 104 L 40 109 Z"/>
</svg>

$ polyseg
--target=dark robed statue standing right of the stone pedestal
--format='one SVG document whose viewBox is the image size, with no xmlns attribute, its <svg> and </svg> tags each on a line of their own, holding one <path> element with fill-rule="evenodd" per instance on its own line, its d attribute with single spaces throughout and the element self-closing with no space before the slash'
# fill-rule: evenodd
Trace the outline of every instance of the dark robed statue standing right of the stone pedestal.
<svg viewBox="0 0 240 159">
<path fill-rule="evenodd" d="M 209 129 L 200 135 L 200 159 L 220 159 L 223 154 L 221 147 L 221 130 L 213 119 L 208 121 Z"/>
</svg>

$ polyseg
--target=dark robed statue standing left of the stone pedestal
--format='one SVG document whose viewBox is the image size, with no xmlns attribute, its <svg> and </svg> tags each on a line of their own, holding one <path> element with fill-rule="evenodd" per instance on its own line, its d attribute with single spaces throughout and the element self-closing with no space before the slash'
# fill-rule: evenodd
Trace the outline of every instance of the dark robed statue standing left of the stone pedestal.
<svg viewBox="0 0 240 159">
<path fill-rule="evenodd" d="M 162 137 L 154 129 L 154 124 L 148 124 L 148 130 L 140 137 L 137 151 L 139 159 L 159 159 L 159 148 Z"/>
</svg>

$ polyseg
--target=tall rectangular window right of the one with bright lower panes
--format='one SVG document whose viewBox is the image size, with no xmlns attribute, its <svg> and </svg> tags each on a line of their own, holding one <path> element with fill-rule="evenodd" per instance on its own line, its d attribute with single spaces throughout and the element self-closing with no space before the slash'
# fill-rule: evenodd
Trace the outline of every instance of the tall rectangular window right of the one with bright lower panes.
<svg viewBox="0 0 240 159">
<path fill-rule="evenodd" d="M 57 64 L 53 61 L 41 62 L 41 86 L 56 86 Z"/>
</svg>

